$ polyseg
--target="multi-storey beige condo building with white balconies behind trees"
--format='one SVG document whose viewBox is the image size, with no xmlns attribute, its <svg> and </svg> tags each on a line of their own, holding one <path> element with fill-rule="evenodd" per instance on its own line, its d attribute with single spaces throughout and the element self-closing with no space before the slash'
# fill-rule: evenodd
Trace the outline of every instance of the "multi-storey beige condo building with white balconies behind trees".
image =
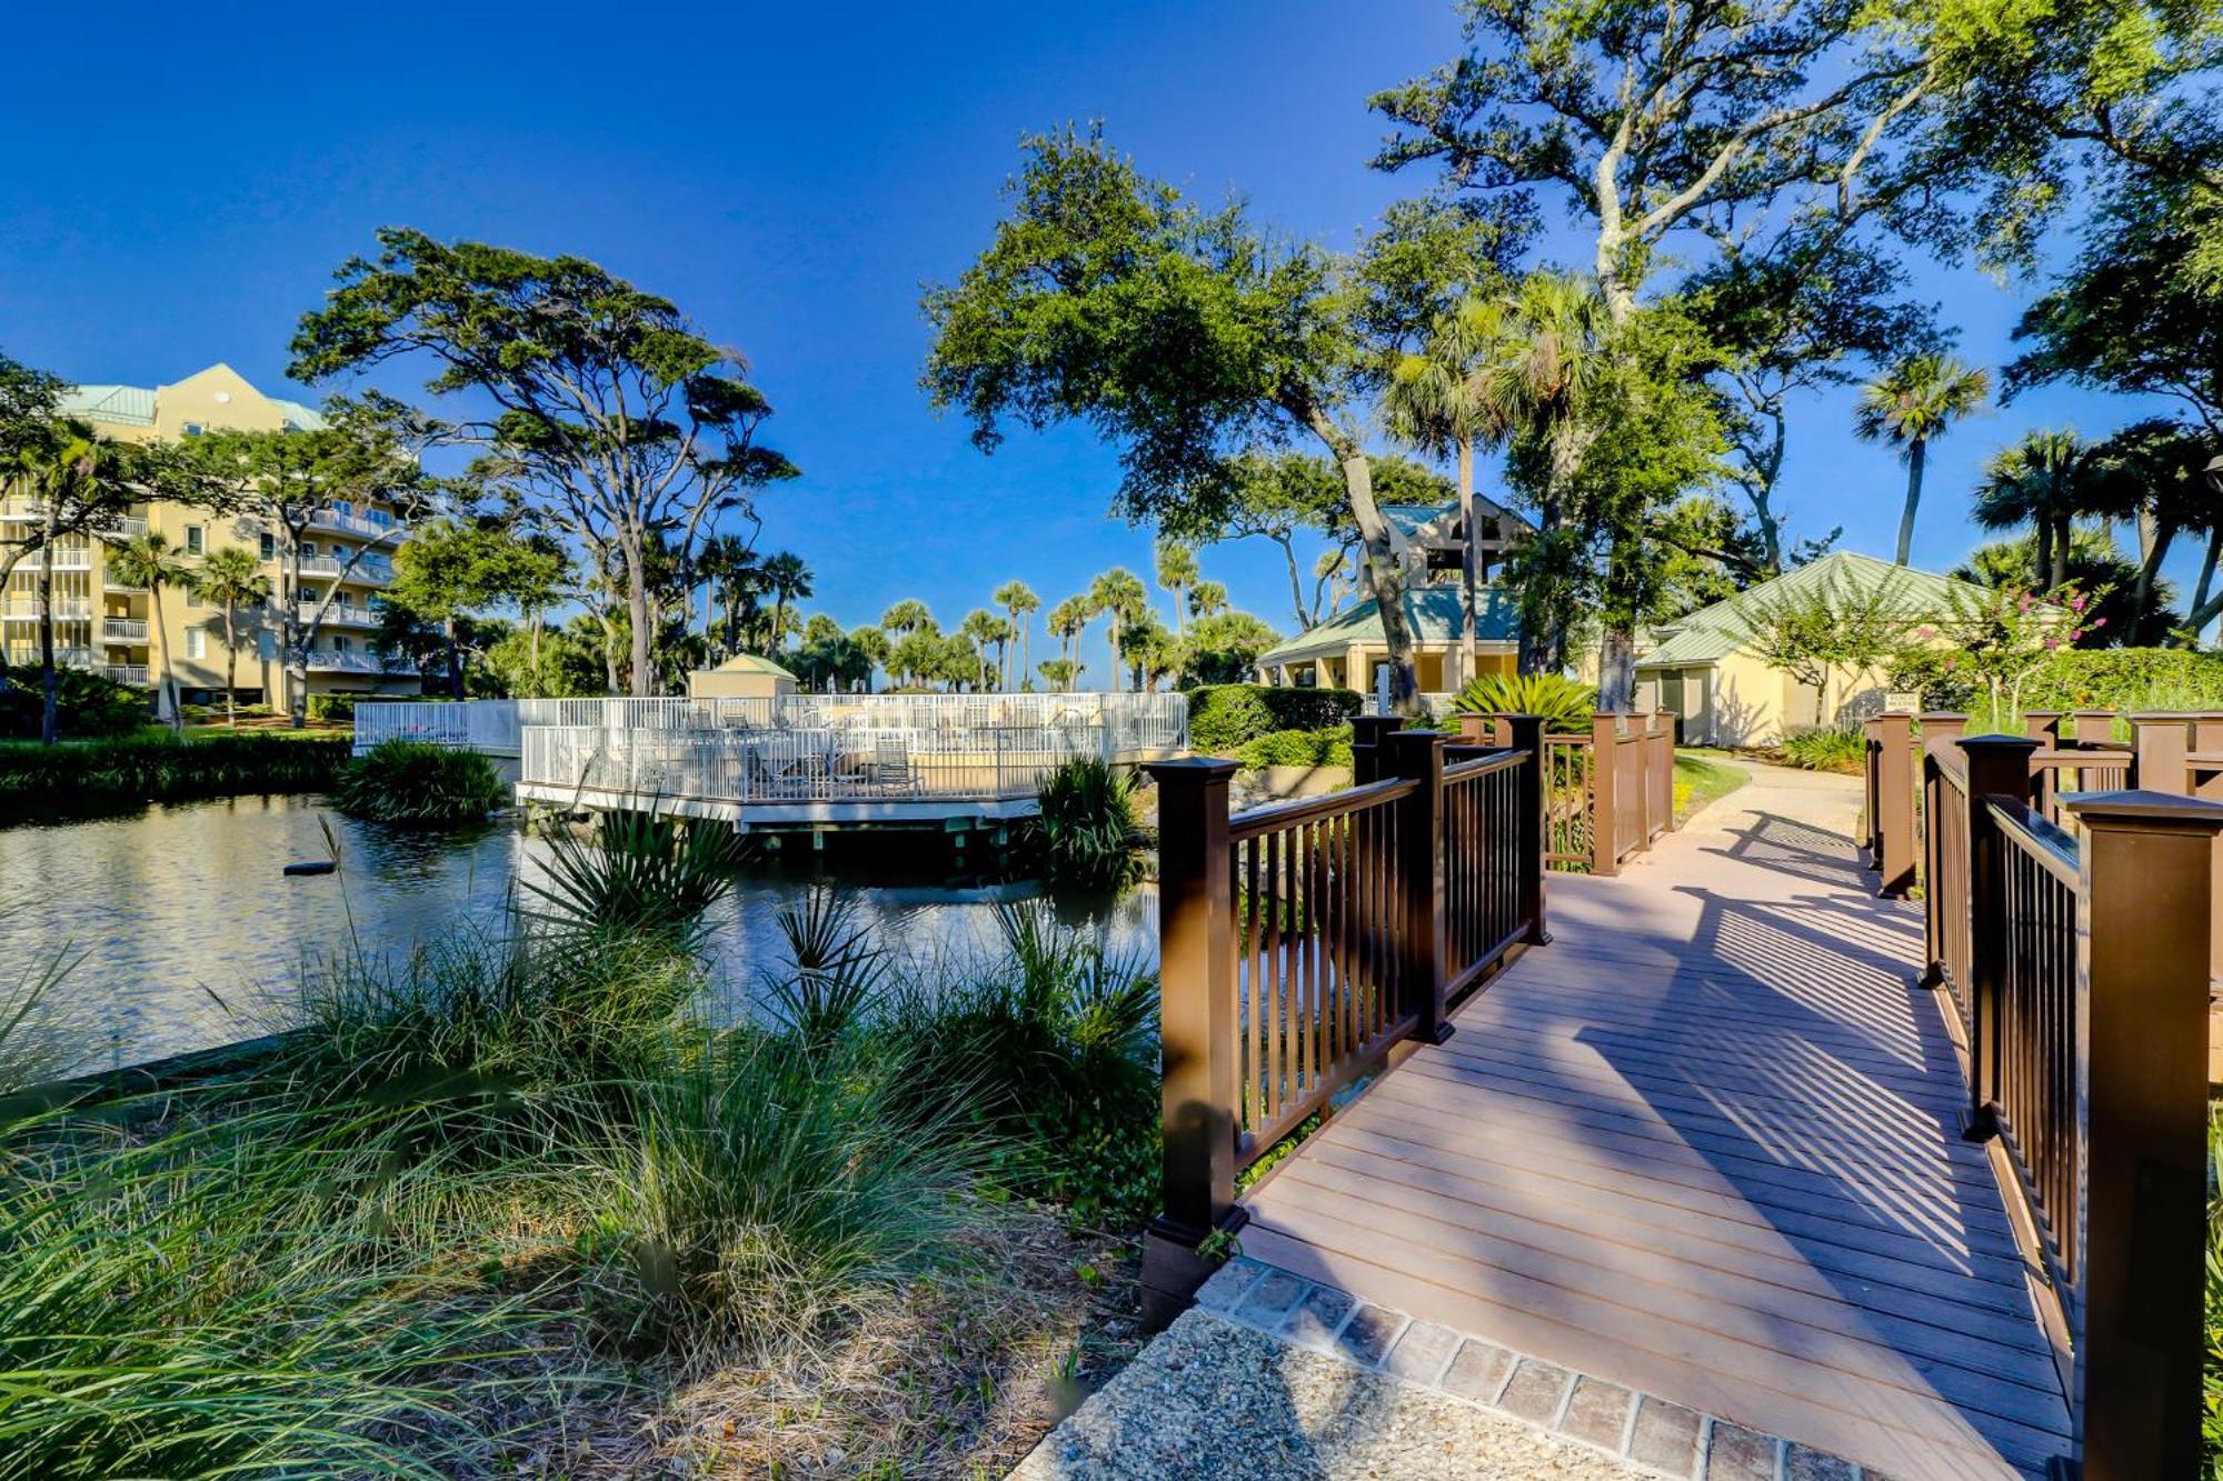
<svg viewBox="0 0 2223 1481">
<path fill-rule="evenodd" d="M 120 443 L 167 443 L 209 431 L 316 429 L 325 420 L 298 400 L 265 396 L 229 365 L 187 376 L 173 385 L 80 385 L 62 411 Z M 36 520 L 24 498 L 0 498 L 0 520 Z M 238 692 L 242 703 L 267 700 L 285 707 L 287 665 L 280 649 L 278 551 L 282 531 L 253 516 L 211 514 L 153 500 L 133 505 L 124 540 L 142 531 L 169 536 L 187 563 L 227 545 L 245 545 L 262 558 L 271 583 L 271 605 L 238 614 Z M 378 652 L 380 589 L 393 578 L 389 551 L 400 540 L 400 523 L 385 505 L 340 503 L 309 527 L 300 560 L 300 614 L 307 620 L 331 587 L 340 594 L 325 612 L 309 654 L 309 694 L 378 692 L 413 694 L 416 669 Z M 376 547 L 349 567 L 365 545 Z M 53 563 L 53 649 L 58 663 L 102 672 L 131 685 L 151 685 L 162 674 L 162 640 L 169 640 L 169 672 L 187 703 L 220 700 L 225 689 L 225 614 L 191 592 L 162 592 L 160 616 L 144 587 L 127 587 L 107 569 L 107 547 L 96 538 L 67 538 L 44 556 Z M 0 592 L 0 645 L 9 663 L 38 663 L 38 563 L 27 556 Z M 342 574 L 345 571 L 345 574 Z"/>
</svg>

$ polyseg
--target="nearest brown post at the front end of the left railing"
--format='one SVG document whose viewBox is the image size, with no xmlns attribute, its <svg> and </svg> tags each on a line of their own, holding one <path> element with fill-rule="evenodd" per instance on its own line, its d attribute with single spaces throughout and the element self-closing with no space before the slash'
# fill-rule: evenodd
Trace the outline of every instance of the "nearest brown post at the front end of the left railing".
<svg viewBox="0 0 2223 1481">
<path fill-rule="evenodd" d="M 1236 952 L 1227 778 L 1214 756 L 1154 761 L 1165 1207 L 1143 1236 L 1143 1316 L 1163 1328 L 1212 1274 L 1200 1245 L 1236 1205 Z"/>
</svg>

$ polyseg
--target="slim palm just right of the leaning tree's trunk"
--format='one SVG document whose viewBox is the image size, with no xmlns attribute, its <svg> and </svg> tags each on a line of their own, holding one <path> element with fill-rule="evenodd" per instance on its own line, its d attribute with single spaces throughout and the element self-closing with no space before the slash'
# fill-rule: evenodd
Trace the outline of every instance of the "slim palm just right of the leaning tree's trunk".
<svg viewBox="0 0 2223 1481">
<path fill-rule="evenodd" d="M 1452 683 L 1454 689 L 1476 674 L 1474 645 L 1481 636 L 1476 587 L 1481 576 L 1474 549 L 1478 525 L 1474 449 L 1496 447 L 1512 434 L 1518 398 L 1512 398 L 1509 391 L 1516 387 L 1496 374 L 1509 349 L 1512 331 L 1505 300 L 1469 294 L 1429 325 L 1427 342 L 1416 354 L 1396 360 L 1383 396 L 1383 414 L 1392 436 L 1429 456 L 1441 458 L 1449 451 L 1458 465 L 1458 527 L 1465 536 L 1465 549 L 1461 554 L 1461 669 Z"/>
</svg>

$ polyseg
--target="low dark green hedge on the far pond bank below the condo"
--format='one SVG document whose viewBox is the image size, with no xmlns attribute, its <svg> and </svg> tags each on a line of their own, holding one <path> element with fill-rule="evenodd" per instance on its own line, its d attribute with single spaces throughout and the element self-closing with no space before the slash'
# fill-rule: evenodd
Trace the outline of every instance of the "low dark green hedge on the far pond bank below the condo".
<svg viewBox="0 0 2223 1481">
<path fill-rule="evenodd" d="M 38 801 L 80 794 L 176 801 L 249 792 L 325 792 L 347 763 L 345 738 L 169 732 L 118 740 L 0 745 L 0 794 Z"/>
</svg>

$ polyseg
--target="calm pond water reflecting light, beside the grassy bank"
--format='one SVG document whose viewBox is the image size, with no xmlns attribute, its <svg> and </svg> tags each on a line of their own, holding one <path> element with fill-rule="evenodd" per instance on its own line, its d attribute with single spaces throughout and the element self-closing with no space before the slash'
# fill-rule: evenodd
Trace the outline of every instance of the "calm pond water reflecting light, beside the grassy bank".
<svg viewBox="0 0 2223 1481">
<path fill-rule="evenodd" d="M 340 872 L 287 878 L 296 861 Z M 518 825 L 465 836 L 356 823 L 313 796 L 153 805 L 129 816 L 0 827 L 0 987 L 56 954 L 98 1036 L 93 1065 L 136 1063 L 280 1027 L 305 972 L 336 952 L 407 954 L 471 923 L 500 930 L 518 872 L 545 843 Z M 883 861 L 891 849 L 874 847 Z M 825 874 L 860 923 L 909 956 L 985 952 L 994 903 L 1031 883 L 949 878 L 947 861 Z M 774 912 L 814 878 L 805 861 L 742 872 L 714 918 L 711 961 L 727 996 L 785 961 Z M 1056 901 L 1109 950 L 1156 950 L 1149 887 L 1120 901 Z"/>
</svg>

